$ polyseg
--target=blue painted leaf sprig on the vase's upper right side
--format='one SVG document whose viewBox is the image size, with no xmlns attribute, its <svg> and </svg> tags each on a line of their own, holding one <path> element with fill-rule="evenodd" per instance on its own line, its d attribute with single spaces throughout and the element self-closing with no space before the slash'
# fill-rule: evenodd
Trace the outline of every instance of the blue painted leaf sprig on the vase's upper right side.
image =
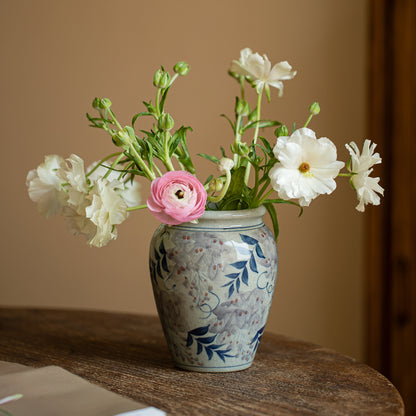
<svg viewBox="0 0 416 416">
<path fill-rule="evenodd" d="M 252 272 L 258 273 L 255 254 L 257 255 L 257 257 L 261 259 L 265 258 L 263 250 L 261 249 L 258 240 L 244 234 L 240 234 L 240 237 L 244 243 L 254 247 L 252 250 L 249 250 L 245 247 L 237 247 L 237 250 L 240 252 L 240 254 L 249 255 L 250 258 L 248 260 L 240 260 L 230 264 L 231 267 L 234 267 L 239 271 L 225 275 L 226 277 L 231 279 L 228 283 L 223 285 L 223 287 L 228 286 L 228 298 L 230 298 L 234 292 L 240 293 L 241 283 L 244 283 L 246 286 L 248 286 L 249 272 L 247 267 L 249 267 Z"/>
</svg>

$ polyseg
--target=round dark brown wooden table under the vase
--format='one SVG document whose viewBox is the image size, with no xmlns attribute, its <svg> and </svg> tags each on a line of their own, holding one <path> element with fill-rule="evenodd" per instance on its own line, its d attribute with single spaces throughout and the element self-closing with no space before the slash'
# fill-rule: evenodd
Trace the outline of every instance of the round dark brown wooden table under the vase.
<svg viewBox="0 0 416 416">
<path fill-rule="evenodd" d="M 403 415 L 395 387 L 352 358 L 265 333 L 251 368 L 176 369 L 152 316 L 0 308 L 0 360 L 58 365 L 168 415 Z"/>
</svg>

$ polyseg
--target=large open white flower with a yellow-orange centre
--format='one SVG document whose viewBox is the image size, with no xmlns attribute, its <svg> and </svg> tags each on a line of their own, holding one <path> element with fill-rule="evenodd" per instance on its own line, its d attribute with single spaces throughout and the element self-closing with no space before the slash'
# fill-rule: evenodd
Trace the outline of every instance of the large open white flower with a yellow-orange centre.
<svg viewBox="0 0 416 416">
<path fill-rule="evenodd" d="M 278 162 L 269 177 L 280 198 L 298 199 L 300 205 L 308 206 L 317 196 L 335 190 L 334 178 L 344 162 L 336 160 L 337 149 L 328 138 L 316 139 L 304 127 L 289 137 L 279 137 L 273 152 Z"/>
</svg>

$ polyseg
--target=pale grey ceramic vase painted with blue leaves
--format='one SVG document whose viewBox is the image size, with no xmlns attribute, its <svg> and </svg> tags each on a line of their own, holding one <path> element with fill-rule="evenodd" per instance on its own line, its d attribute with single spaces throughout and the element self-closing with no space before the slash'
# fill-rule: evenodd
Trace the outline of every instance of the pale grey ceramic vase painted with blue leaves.
<svg viewBox="0 0 416 416">
<path fill-rule="evenodd" d="M 251 365 L 277 277 L 265 211 L 207 211 L 198 224 L 162 224 L 156 230 L 150 274 L 178 367 L 223 372 Z"/>
</svg>

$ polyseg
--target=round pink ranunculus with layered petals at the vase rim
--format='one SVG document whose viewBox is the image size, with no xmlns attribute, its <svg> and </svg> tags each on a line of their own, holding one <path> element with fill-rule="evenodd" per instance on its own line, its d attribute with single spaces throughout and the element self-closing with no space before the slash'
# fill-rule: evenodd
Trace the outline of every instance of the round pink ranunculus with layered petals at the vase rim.
<svg viewBox="0 0 416 416">
<path fill-rule="evenodd" d="M 189 172 L 166 172 L 152 182 L 150 191 L 147 206 L 165 224 L 177 225 L 193 221 L 204 213 L 207 191 Z"/>
</svg>

